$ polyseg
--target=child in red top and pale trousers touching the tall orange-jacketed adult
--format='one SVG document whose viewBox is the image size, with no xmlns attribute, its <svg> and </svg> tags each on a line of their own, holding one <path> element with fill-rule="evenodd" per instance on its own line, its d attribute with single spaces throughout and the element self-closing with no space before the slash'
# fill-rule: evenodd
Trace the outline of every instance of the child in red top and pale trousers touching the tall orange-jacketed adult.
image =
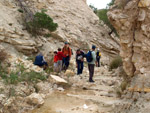
<svg viewBox="0 0 150 113">
<path fill-rule="evenodd" d="M 58 52 L 57 52 L 57 57 L 58 57 L 58 62 L 57 62 L 57 65 L 58 65 L 58 71 L 61 72 L 62 70 L 62 63 L 63 63 L 63 52 L 61 51 L 61 48 L 58 48 Z"/>
</svg>

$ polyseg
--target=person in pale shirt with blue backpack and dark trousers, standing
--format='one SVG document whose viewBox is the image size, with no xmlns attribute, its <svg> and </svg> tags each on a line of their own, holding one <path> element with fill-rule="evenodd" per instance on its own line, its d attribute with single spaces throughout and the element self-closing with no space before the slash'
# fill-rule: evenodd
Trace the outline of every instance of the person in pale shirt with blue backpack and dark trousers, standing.
<svg viewBox="0 0 150 113">
<path fill-rule="evenodd" d="M 96 46 L 92 46 L 92 51 L 89 51 L 86 55 L 86 59 L 88 62 L 88 69 L 89 69 L 89 82 L 94 82 L 94 67 L 96 62 L 96 53 L 95 53 Z"/>
</svg>

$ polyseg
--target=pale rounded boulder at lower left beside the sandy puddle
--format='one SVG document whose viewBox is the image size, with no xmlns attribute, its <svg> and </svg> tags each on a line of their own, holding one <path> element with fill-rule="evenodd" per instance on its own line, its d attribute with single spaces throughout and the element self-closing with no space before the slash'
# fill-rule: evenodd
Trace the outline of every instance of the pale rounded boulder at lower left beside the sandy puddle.
<svg viewBox="0 0 150 113">
<path fill-rule="evenodd" d="M 43 105 L 44 104 L 44 96 L 42 94 L 32 93 L 26 100 L 31 105 Z"/>
</svg>

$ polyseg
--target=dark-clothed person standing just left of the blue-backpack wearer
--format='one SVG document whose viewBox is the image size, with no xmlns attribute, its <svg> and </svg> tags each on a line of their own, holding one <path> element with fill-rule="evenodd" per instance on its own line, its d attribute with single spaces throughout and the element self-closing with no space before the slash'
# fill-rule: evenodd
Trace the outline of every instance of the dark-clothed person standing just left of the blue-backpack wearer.
<svg viewBox="0 0 150 113">
<path fill-rule="evenodd" d="M 77 75 L 80 75 L 83 72 L 84 67 L 83 62 L 84 62 L 84 52 L 78 49 L 76 52 Z"/>
</svg>

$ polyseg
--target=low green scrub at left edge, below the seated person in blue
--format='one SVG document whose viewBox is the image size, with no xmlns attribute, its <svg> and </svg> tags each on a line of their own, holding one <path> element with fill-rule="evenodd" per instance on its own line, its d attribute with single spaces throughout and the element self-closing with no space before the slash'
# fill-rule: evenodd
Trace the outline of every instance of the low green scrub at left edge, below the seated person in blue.
<svg viewBox="0 0 150 113">
<path fill-rule="evenodd" d="M 8 74 L 6 69 L 0 68 L 0 76 L 6 84 L 17 84 L 19 82 L 38 82 L 39 80 L 46 80 L 46 75 L 35 71 L 26 72 L 23 65 L 17 66 L 17 72 Z"/>
</svg>

